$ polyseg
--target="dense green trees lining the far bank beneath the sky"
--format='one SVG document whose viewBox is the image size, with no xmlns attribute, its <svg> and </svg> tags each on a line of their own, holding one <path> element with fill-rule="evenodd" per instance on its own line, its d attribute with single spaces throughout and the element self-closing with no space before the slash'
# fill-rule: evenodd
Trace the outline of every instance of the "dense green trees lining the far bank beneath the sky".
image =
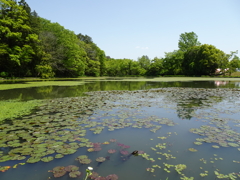
<svg viewBox="0 0 240 180">
<path fill-rule="evenodd" d="M 0 0 L 0 77 L 201 76 L 240 68 L 237 51 L 201 44 L 194 32 L 180 34 L 178 48 L 163 58 L 114 59 L 90 36 L 39 17 L 25 0 Z"/>
</svg>

